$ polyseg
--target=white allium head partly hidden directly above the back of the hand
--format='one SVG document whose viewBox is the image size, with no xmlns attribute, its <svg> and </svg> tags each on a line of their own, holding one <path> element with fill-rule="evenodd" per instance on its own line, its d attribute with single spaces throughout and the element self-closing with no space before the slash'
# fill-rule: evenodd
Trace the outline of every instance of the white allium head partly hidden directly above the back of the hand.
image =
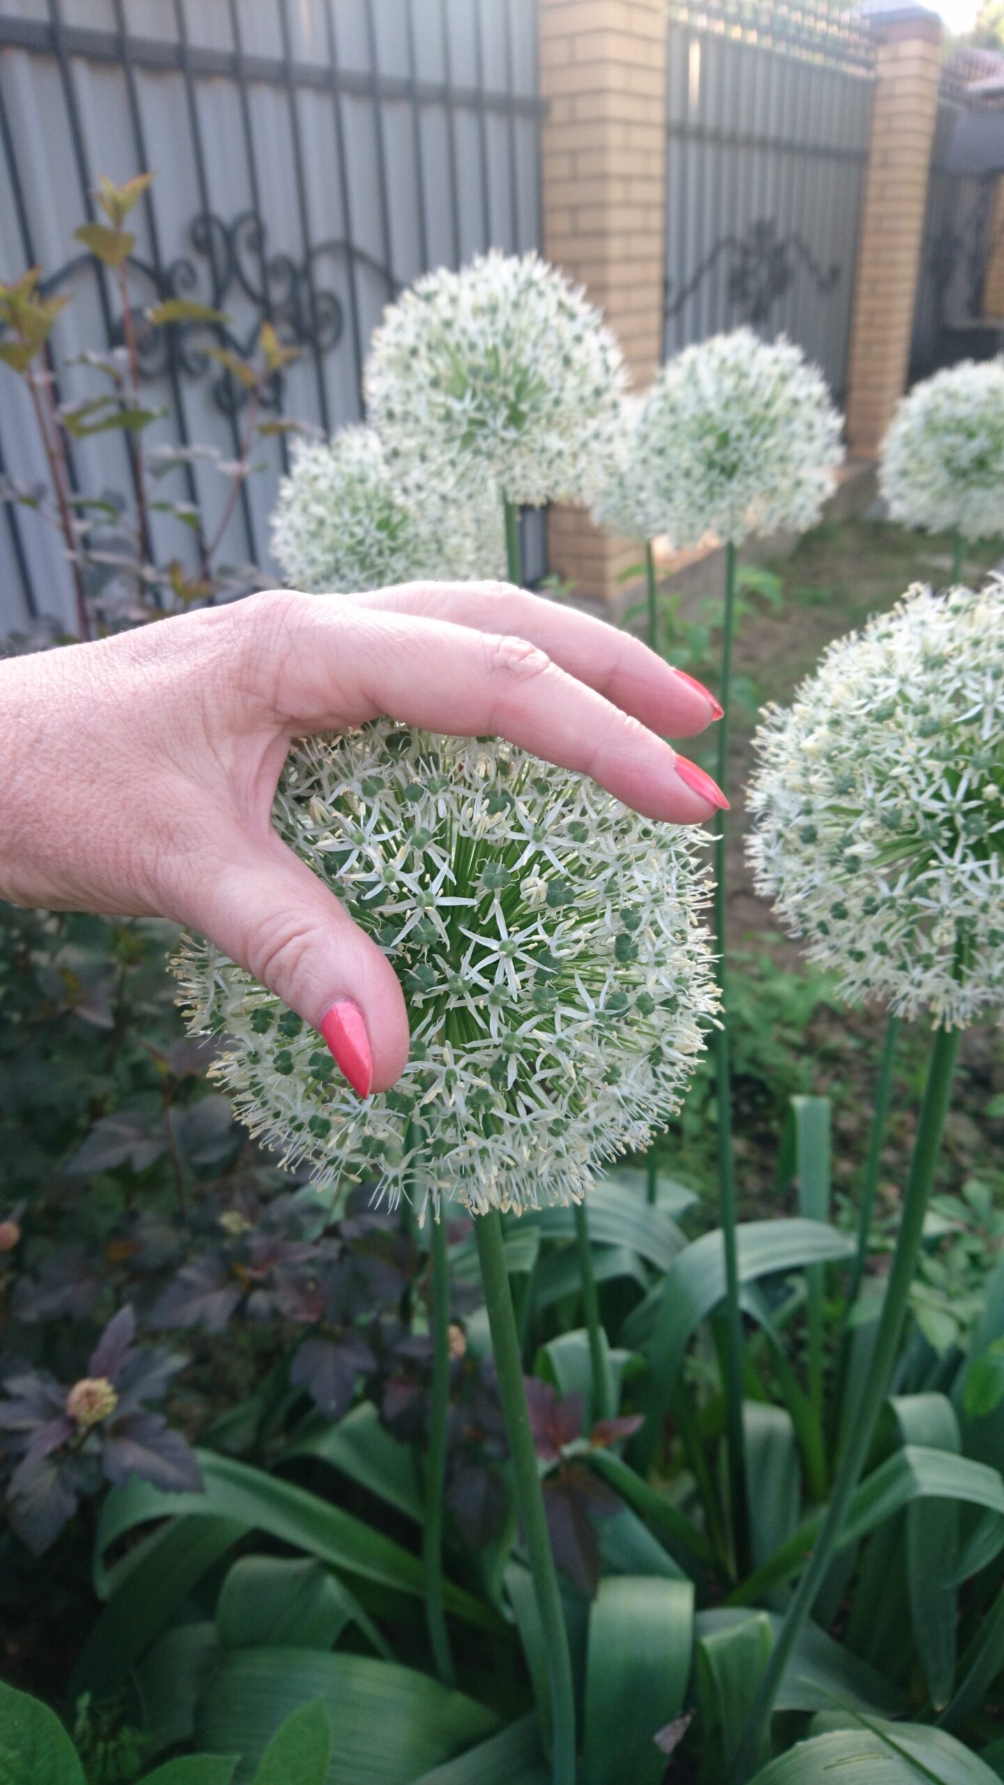
<svg viewBox="0 0 1004 1785">
<path fill-rule="evenodd" d="M 300 446 L 279 486 L 272 550 L 297 589 L 381 589 L 418 578 L 500 577 L 502 512 L 477 487 L 448 507 L 391 475 L 373 428 Z"/>
</svg>

